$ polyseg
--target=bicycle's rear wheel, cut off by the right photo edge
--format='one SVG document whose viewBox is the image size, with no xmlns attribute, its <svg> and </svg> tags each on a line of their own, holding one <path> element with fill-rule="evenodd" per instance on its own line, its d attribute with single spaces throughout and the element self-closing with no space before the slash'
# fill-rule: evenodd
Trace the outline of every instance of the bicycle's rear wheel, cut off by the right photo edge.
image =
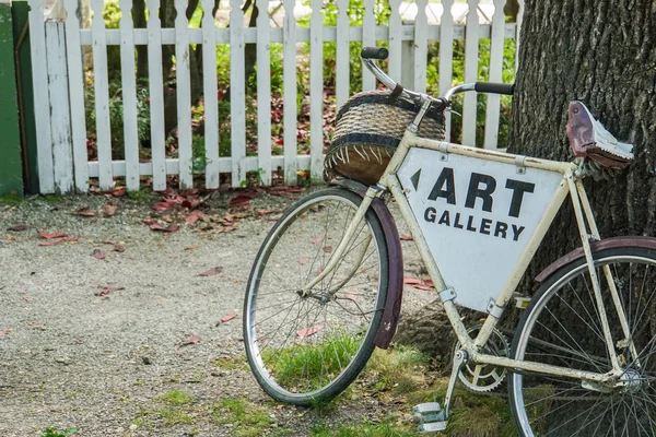
<svg viewBox="0 0 656 437">
<path fill-rule="evenodd" d="M 621 383 L 596 383 L 516 370 L 508 389 L 522 436 L 656 435 L 656 252 L 614 248 L 594 255 Z M 620 324 L 604 268 L 629 324 Z M 511 356 L 573 369 L 612 370 L 585 259 L 563 267 L 536 293 Z"/>
</svg>

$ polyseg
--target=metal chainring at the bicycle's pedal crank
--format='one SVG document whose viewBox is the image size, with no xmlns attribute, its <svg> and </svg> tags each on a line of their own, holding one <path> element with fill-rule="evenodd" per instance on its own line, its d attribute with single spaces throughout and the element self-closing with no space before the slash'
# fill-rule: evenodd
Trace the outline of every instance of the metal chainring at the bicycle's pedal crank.
<svg viewBox="0 0 656 437">
<path fill-rule="evenodd" d="M 470 336 L 476 338 L 481 324 L 473 326 L 467 330 Z M 456 343 L 456 351 L 460 350 L 460 342 Z M 483 346 L 482 351 L 485 354 L 496 356 L 508 356 L 509 345 L 503 333 L 493 329 L 490 339 Z M 466 363 L 458 378 L 468 390 L 476 392 L 489 392 L 496 389 L 504 381 L 507 374 L 505 367 L 496 367 L 490 364 L 477 364 L 472 362 Z"/>
</svg>

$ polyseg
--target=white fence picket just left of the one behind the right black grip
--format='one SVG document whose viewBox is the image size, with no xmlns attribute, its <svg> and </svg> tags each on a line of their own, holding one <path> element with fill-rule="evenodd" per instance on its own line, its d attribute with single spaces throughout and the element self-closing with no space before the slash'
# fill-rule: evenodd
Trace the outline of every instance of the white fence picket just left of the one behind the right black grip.
<svg viewBox="0 0 656 437">
<path fill-rule="evenodd" d="M 468 0 L 467 28 L 465 29 L 465 82 L 476 82 L 478 78 L 479 16 L 478 0 Z M 476 145 L 476 96 L 465 93 L 462 97 L 462 144 Z"/>
</svg>

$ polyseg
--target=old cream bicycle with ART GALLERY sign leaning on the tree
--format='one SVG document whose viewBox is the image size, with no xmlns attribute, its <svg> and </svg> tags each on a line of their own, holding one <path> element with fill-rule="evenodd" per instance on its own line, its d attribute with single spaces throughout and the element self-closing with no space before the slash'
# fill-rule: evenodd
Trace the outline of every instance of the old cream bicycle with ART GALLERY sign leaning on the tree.
<svg viewBox="0 0 656 437">
<path fill-rule="evenodd" d="M 656 239 L 601 239 L 582 180 L 633 160 L 581 102 L 569 107 L 572 162 L 444 141 L 454 94 L 512 94 L 478 82 L 434 98 L 390 90 L 349 99 L 337 116 L 326 168 L 333 187 L 292 205 L 265 239 L 244 306 L 253 373 L 274 399 L 329 400 L 351 383 L 375 346 L 387 347 L 401 305 L 402 256 L 394 201 L 443 302 L 457 344 L 444 403 L 414 408 L 420 429 L 445 429 L 454 388 L 490 391 L 507 378 L 523 436 L 656 434 Z M 400 126 L 394 127 L 395 125 Z M 570 197 L 581 248 L 516 287 Z M 528 305 L 508 339 L 504 310 Z M 466 327 L 458 308 L 485 314 Z"/>
</svg>

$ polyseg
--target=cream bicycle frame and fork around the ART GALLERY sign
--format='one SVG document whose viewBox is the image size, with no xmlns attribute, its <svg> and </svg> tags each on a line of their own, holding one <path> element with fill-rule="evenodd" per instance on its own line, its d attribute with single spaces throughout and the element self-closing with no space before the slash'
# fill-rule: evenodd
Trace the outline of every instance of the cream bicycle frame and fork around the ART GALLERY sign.
<svg viewBox="0 0 656 437">
<path fill-rule="evenodd" d="M 400 213 L 408 224 L 410 228 L 410 233 L 419 248 L 421 258 L 423 259 L 425 267 L 429 271 L 433 283 L 435 284 L 435 288 L 440 293 L 441 299 L 444 304 L 445 312 L 450 321 L 450 324 L 457 335 L 458 341 L 460 342 L 461 349 L 465 350 L 468 354 L 468 359 L 478 364 L 490 364 L 493 366 L 501 367 L 509 367 L 526 371 L 535 371 L 541 374 L 549 375 L 558 375 L 563 377 L 570 377 L 575 379 L 587 380 L 590 382 L 607 382 L 611 379 L 618 379 L 622 375 L 622 368 L 619 363 L 618 356 L 614 352 L 614 342 L 610 333 L 610 327 L 607 318 L 607 310 L 604 304 L 604 299 L 601 296 L 601 287 L 599 277 L 597 275 L 597 271 L 593 263 L 593 255 L 590 250 L 590 240 L 600 239 L 599 233 L 597 229 L 597 225 L 595 223 L 595 218 L 593 215 L 593 211 L 583 187 L 581 177 L 578 174 L 578 164 L 576 163 L 566 163 L 566 162 L 557 162 L 557 161 L 548 161 L 548 160 L 539 160 L 528 156 L 514 155 L 504 152 L 497 151 L 488 151 L 482 149 L 469 147 L 460 144 L 448 143 L 444 141 L 435 141 L 425 138 L 420 138 L 412 131 L 412 125 L 401 139 L 394 156 L 391 157 L 387 168 L 385 169 L 383 176 L 380 177 L 377 186 L 372 186 L 366 192 L 362 204 L 360 205 L 353 221 L 351 222 L 349 228 L 347 229 L 341 243 L 332 253 L 332 257 L 325 270 L 317 275 L 313 281 L 311 281 L 305 287 L 303 287 L 303 293 L 311 293 L 311 288 L 319 283 L 326 275 L 328 275 L 331 270 L 336 267 L 338 260 L 343 255 L 348 243 L 351 240 L 354 235 L 355 229 L 361 225 L 362 220 L 364 218 L 364 214 L 368 210 L 372 201 L 382 196 L 383 192 L 389 191 L 391 197 L 396 200 Z M 539 168 L 542 170 L 554 172 L 562 174 L 562 181 L 555 193 L 553 194 L 549 205 L 547 206 L 546 213 L 541 217 L 538 223 L 536 231 L 534 232 L 531 238 L 529 239 L 526 248 L 519 261 L 515 264 L 514 270 L 506 281 L 503 290 L 499 294 L 495 306 L 499 308 L 499 311 L 492 311 L 485 318 L 481 329 L 479 330 L 478 335 L 472 339 L 469 336 L 467 328 L 461 321 L 460 315 L 458 312 L 458 308 L 456 304 L 449 297 L 449 292 L 452 288 L 448 288 L 444 282 L 442 273 L 436 264 L 435 259 L 433 258 L 429 245 L 421 232 L 419 223 L 412 213 L 409 201 L 403 193 L 403 188 L 400 184 L 397 172 L 401 167 L 401 164 L 406 160 L 408 152 L 412 147 L 422 147 L 427 149 L 441 153 L 452 153 L 457 155 L 465 155 L 469 157 L 476 157 L 484 161 L 493 161 L 505 163 L 508 165 L 522 165 L 524 167 L 529 168 Z M 483 345 L 487 343 L 488 339 L 493 332 L 494 327 L 499 322 L 504 308 L 511 302 L 513 297 L 513 293 L 517 287 L 522 276 L 524 275 L 530 260 L 532 259 L 535 252 L 540 246 L 542 238 L 544 237 L 549 226 L 553 222 L 553 218 L 557 212 L 560 210 L 565 197 L 570 194 L 572 199 L 572 203 L 574 205 L 574 213 L 576 216 L 576 223 L 578 225 L 578 231 L 581 235 L 581 241 L 583 245 L 583 249 L 585 252 L 586 262 L 588 265 L 593 290 L 595 294 L 596 304 L 598 307 L 598 311 L 601 319 L 601 326 L 604 331 L 604 336 L 606 340 L 606 344 L 608 347 L 609 356 L 612 364 L 612 369 L 610 369 L 607 374 L 599 374 L 593 371 L 583 371 L 571 369 L 566 367 L 546 365 L 529 361 L 518 361 L 512 359 L 507 357 L 490 355 L 482 353 Z M 631 352 L 633 356 L 637 356 L 635 353 L 635 346 L 631 340 L 629 323 L 626 321 L 624 310 L 622 308 L 618 291 L 614 286 L 614 281 L 612 280 L 612 274 L 610 268 L 602 268 L 604 277 L 609 284 L 609 291 L 612 296 L 612 302 L 614 305 L 614 309 L 618 314 L 622 331 L 624 334 L 624 339 L 621 340 L 626 342 L 630 345 Z M 640 363 L 637 364 L 640 366 Z M 618 382 L 619 383 L 619 382 Z"/>
</svg>

